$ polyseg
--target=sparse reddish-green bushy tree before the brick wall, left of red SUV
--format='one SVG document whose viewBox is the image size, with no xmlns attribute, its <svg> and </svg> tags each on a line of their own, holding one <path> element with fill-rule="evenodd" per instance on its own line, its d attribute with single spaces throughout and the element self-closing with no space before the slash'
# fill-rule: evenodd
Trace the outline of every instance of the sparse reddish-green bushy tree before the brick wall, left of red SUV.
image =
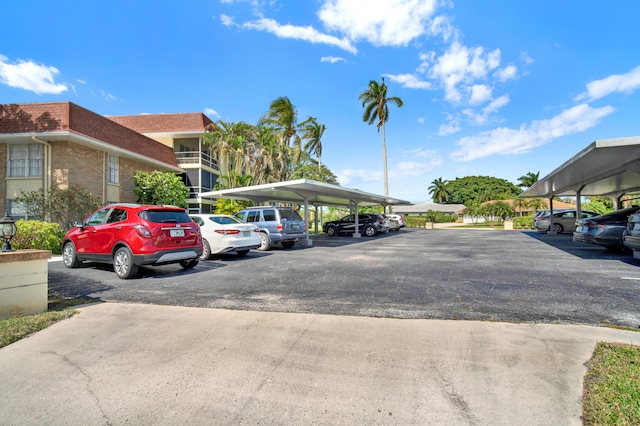
<svg viewBox="0 0 640 426">
<path fill-rule="evenodd" d="M 16 201 L 29 217 L 57 223 L 64 231 L 102 205 L 100 198 L 77 185 L 69 189 L 51 186 L 46 191 L 40 188 L 21 192 Z"/>
</svg>

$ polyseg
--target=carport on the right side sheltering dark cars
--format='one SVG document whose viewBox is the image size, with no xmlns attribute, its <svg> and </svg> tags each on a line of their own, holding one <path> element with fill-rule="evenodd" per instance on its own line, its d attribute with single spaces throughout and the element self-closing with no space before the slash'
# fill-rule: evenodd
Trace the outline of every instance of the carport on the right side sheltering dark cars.
<svg viewBox="0 0 640 426">
<path fill-rule="evenodd" d="M 520 194 L 523 198 L 576 197 L 580 216 L 581 196 L 620 197 L 640 190 L 640 137 L 592 142 L 567 162 Z M 553 226 L 553 214 L 550 216 Z"/>
</svg>

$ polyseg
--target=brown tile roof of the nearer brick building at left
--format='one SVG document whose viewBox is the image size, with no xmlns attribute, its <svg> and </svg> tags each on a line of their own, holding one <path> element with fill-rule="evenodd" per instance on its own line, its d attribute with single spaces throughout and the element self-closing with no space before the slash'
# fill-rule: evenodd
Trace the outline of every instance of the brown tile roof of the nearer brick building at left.
<svg viewBox="0 0 640 426">
<path fill-rule="evenodd" d="M 0 105 L 0 133 L 69 131 L 177 166 L 173 149 L 71 102 Z"/>
</svg>

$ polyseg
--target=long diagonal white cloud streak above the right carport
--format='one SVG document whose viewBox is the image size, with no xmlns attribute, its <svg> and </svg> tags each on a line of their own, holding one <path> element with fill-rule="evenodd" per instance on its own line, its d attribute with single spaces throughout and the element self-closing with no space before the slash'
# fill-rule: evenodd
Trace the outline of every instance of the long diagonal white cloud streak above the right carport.
<svg viewBox="0 0 640 426">
<path fill-rule="evenodd" d="M 519 129 L 497 128 L 458 141 L 460 149 L 451 154 L 456 161 L 470 161 L 491 155 L 516 155 L 530 152 L 553 139 L 584 132 L 596 126 L 600 120 L 612 113 L 612 106 L 592 108 L 587 104 L 577 105 L 548 120 L 533 121 Z"/>
</svg>

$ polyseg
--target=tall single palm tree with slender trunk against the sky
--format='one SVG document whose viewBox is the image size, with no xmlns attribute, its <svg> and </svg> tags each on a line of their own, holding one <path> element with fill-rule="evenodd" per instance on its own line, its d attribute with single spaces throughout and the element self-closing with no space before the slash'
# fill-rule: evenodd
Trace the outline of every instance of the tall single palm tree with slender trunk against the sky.
<svg viewBox="0 0 640 426">
<path fill-rule="evenodd" d="M 376 126 L 378 132 L 382 129 L 382 161 L 384 163 L 384 195 L 389 195 L 389 179 L 387 175 L 387 141 L 385 138 L 385 123 L 389 120 L 389 103 L 395 104 L 398 108 L 402 108 L 404 102 L 397 96 L 387 97 L 387 85 L 384 84 L 384 77 L 382 77 L 382 84 L 378 84 L 377 81 L 369 81 L 369 88 L 360 93 L 358 97 L 362 101 L 362 107 L 364 108 L 364 114 L 362 120 L 369 125 L 378 121 Z"/>
</svg>

